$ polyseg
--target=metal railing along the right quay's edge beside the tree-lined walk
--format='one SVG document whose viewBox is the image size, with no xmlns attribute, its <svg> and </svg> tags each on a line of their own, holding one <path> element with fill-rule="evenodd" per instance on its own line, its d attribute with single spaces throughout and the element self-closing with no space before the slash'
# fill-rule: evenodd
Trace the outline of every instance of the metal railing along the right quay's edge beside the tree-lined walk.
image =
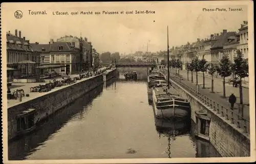
<svg viewBox="0 0 256 164">
<path fill-rule="evenodd" d="M 166 70 L 161 70 L 164 74 L 166 74 Z M 237 128 L 243 129 L 244 133 L 250 134 L 250 121 L 245 119 L 240 113 L 234 112 L 232 109 L 224 107 L 223 105 L 219 104 L 218 102 L 208 98 L 207 96 L 203 95 L 197 89 L 191 88 L 188 85 L 182 82 L 182 79 L 175 75 L 170 75 L 170 79 L 175 81 L 185 90 L 187 90 L 191 95 L 195 96 L 202 104 L 205 104 L 207 107 L 210 107 L 213 111 L 220 114 L 222 118 L 225 118 L 226 121 L 230 121 L 231 125 L 236 126 Z"/>
</svg>

